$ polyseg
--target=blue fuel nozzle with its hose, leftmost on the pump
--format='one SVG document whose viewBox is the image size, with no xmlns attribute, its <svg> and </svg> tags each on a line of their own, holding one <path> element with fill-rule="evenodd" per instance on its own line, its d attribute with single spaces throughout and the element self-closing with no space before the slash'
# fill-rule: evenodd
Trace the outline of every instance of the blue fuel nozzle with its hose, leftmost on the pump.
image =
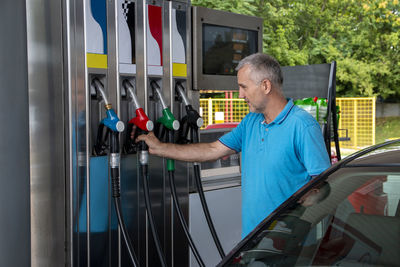
<svg viewBox="0 0 400 267">
<path fill-rule="evenodd" d="M 118 218 L 118 223 L 121 228 L 122 236 L 124 238 L 126 247 L 128 249 L 129 257 L 133 266 L 139 266 L 137 257 L 133 250 L 132 242 L 130 240 L 128 231 L 121 212 L 121 188 L 120 188 L 120 177 L 119 177 L 119 164 L 120 164 L 120 151 L 119 151 L 119 138 L 118 135 L 125 129 L 125 125 L 119 120 L 115 113 L 112 105 L 108 102 L 107 96 L 103 90 L 103 85 L 98 79 L 93 79 L 91 84 L 101 95 L 104 100 L 106 109 L 106 118 L 101 120 L 99 129 L 97 132 L 97 140 L 95 144 L 96 153 L 104 152 L 107 148 L 105 139 L 109 138 L 109 165 L 111 172 L 111 185 L 112 185 L 112 197 L 114 199 L 115 211 Z M 106 128 L 104 128 L 104 126 Z M 105 132 L 105 133 L 104 133 Z"/>
</svg>

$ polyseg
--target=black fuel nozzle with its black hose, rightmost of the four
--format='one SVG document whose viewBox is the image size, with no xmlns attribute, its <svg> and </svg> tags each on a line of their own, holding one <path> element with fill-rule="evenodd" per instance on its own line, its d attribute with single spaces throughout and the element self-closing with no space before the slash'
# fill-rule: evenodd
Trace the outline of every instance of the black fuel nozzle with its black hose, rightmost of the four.
<svg viewBox="0 0 400 267">
<path fill-rule="evenodd" d="M 199 128 L 203 125 L 204 121 L 199 113 L 190 104 L 182 83 L 176 82 L 175 90 L 178 95 L 178 99 L 183 103 L 186 110 L 186 115 L 182 118 L 182 126 L 179 132 L 180 143 L 198 143 L 199 142 Z M 203 207 L 204 215 L 207 220 L 208 228 L 210 229 L 214 243 L 218 249 L 221 258 L 225 257 L 225 252 L 222 248 L 221 242 L 219 241 L 217 232 L 215 230 L 213 221 L 211 219 L 210 211 L 208 209 L 207 201 L 204 195 L 203 186 L 200 179 L 200 166 L 198 162 L 193 163 L 194 177 L 197 192 L 199 193 L 201 206 Z"/>
</svg>

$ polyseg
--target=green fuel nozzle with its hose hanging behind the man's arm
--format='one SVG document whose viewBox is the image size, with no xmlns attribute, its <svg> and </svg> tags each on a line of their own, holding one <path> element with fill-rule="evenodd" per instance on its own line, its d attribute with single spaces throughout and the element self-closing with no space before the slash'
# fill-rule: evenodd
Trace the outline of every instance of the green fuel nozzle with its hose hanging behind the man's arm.
<svg viewBox="0 0 400 267">
<path fill-rule="evenodd" d="M 157 100 L 160 102 L 161 107 L 162 107 L 162 114 L 163 116 L 157 120 L 157 137 L 164 142 L 174 142 L 174 131 L 179 130 L 180 123 L 177 121 L 168 108 L 168 106 L 165 104 L 165 101 L 163 99 L 161 89 L 157 82 L 151 81 L 150 86 L 153 89 L 154 95 L 156 96 Z M 167 170 L 168 170 L 168 177 L 169 177 L 169 183 L 171 187 L 171 194 L 172 194 L 172 199 L 174 202 L 175 206 L 175 211 L 178 215 L 179 221 L 182 225 L 183 231 L 185 233 L 185 236 L 189 242 L 189 246 L 192 249 L 193 255 L 195 256 L 197 263 L 200 266 L 205 266 L 203 260 L 201 259 L 200 253 L 198 252 L 193 239 L 190 235 L 189 228 L 187 226 L 187 223 L 185 221 L 185 218 L 182 213 L 182 209 L 179 204 L 178 200 L 178 195 L 176 192 L 176 185 L 175 185 L 175 161 L 173 159 L 167 159 Z"/>
</svg>

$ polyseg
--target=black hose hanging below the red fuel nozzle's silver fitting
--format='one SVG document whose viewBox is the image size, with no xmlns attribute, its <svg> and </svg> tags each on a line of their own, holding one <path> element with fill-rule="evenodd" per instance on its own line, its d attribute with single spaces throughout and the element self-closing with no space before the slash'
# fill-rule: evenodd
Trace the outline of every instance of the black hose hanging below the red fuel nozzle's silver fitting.
<svg viewBox="0 0 400 267">
<path fill-rule="evenodd" d="M 149 219 L 151 233 L 153 235 L 153 240 L 156 245 L 158 257 L 160 258 L 161 266 L 166 267 L 167 263 L 165 260 L 164 253 L 161 250 L 161 242 L 160 242 L 160 239 L 158 238 L 157 229 L 154 224 L 153 211 L 151 208 L 150 196 L 149 196 L 149 185 L 147 182 L 147 168 L 148 168 L 148 165 L 140 164 L 140 169 L 141 169 L 141 174 L 142 174 L 142 179 L 143 179 L 143 191 L 144 191 L 144 200 L 145 200 L 145 205 L 146 205 L 146 210 L 147 210 L 147 218 Z"/>
</svg>

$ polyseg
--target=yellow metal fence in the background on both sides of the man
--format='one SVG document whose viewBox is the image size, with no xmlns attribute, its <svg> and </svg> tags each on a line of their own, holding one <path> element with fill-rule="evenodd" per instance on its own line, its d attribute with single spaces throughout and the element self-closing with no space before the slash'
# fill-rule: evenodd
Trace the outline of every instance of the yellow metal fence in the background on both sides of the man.
<svg viewBox="0 0 400 267">
<path fill-rule="evenodd" d="M 375 97 L 336 98 L 341 148 L 359 149 L 375 144 L 375 100 Z M 240 122 L 248 112 L 243 99 L 200 99 L 203 128 L 215 123 Z"/>
</svg>

